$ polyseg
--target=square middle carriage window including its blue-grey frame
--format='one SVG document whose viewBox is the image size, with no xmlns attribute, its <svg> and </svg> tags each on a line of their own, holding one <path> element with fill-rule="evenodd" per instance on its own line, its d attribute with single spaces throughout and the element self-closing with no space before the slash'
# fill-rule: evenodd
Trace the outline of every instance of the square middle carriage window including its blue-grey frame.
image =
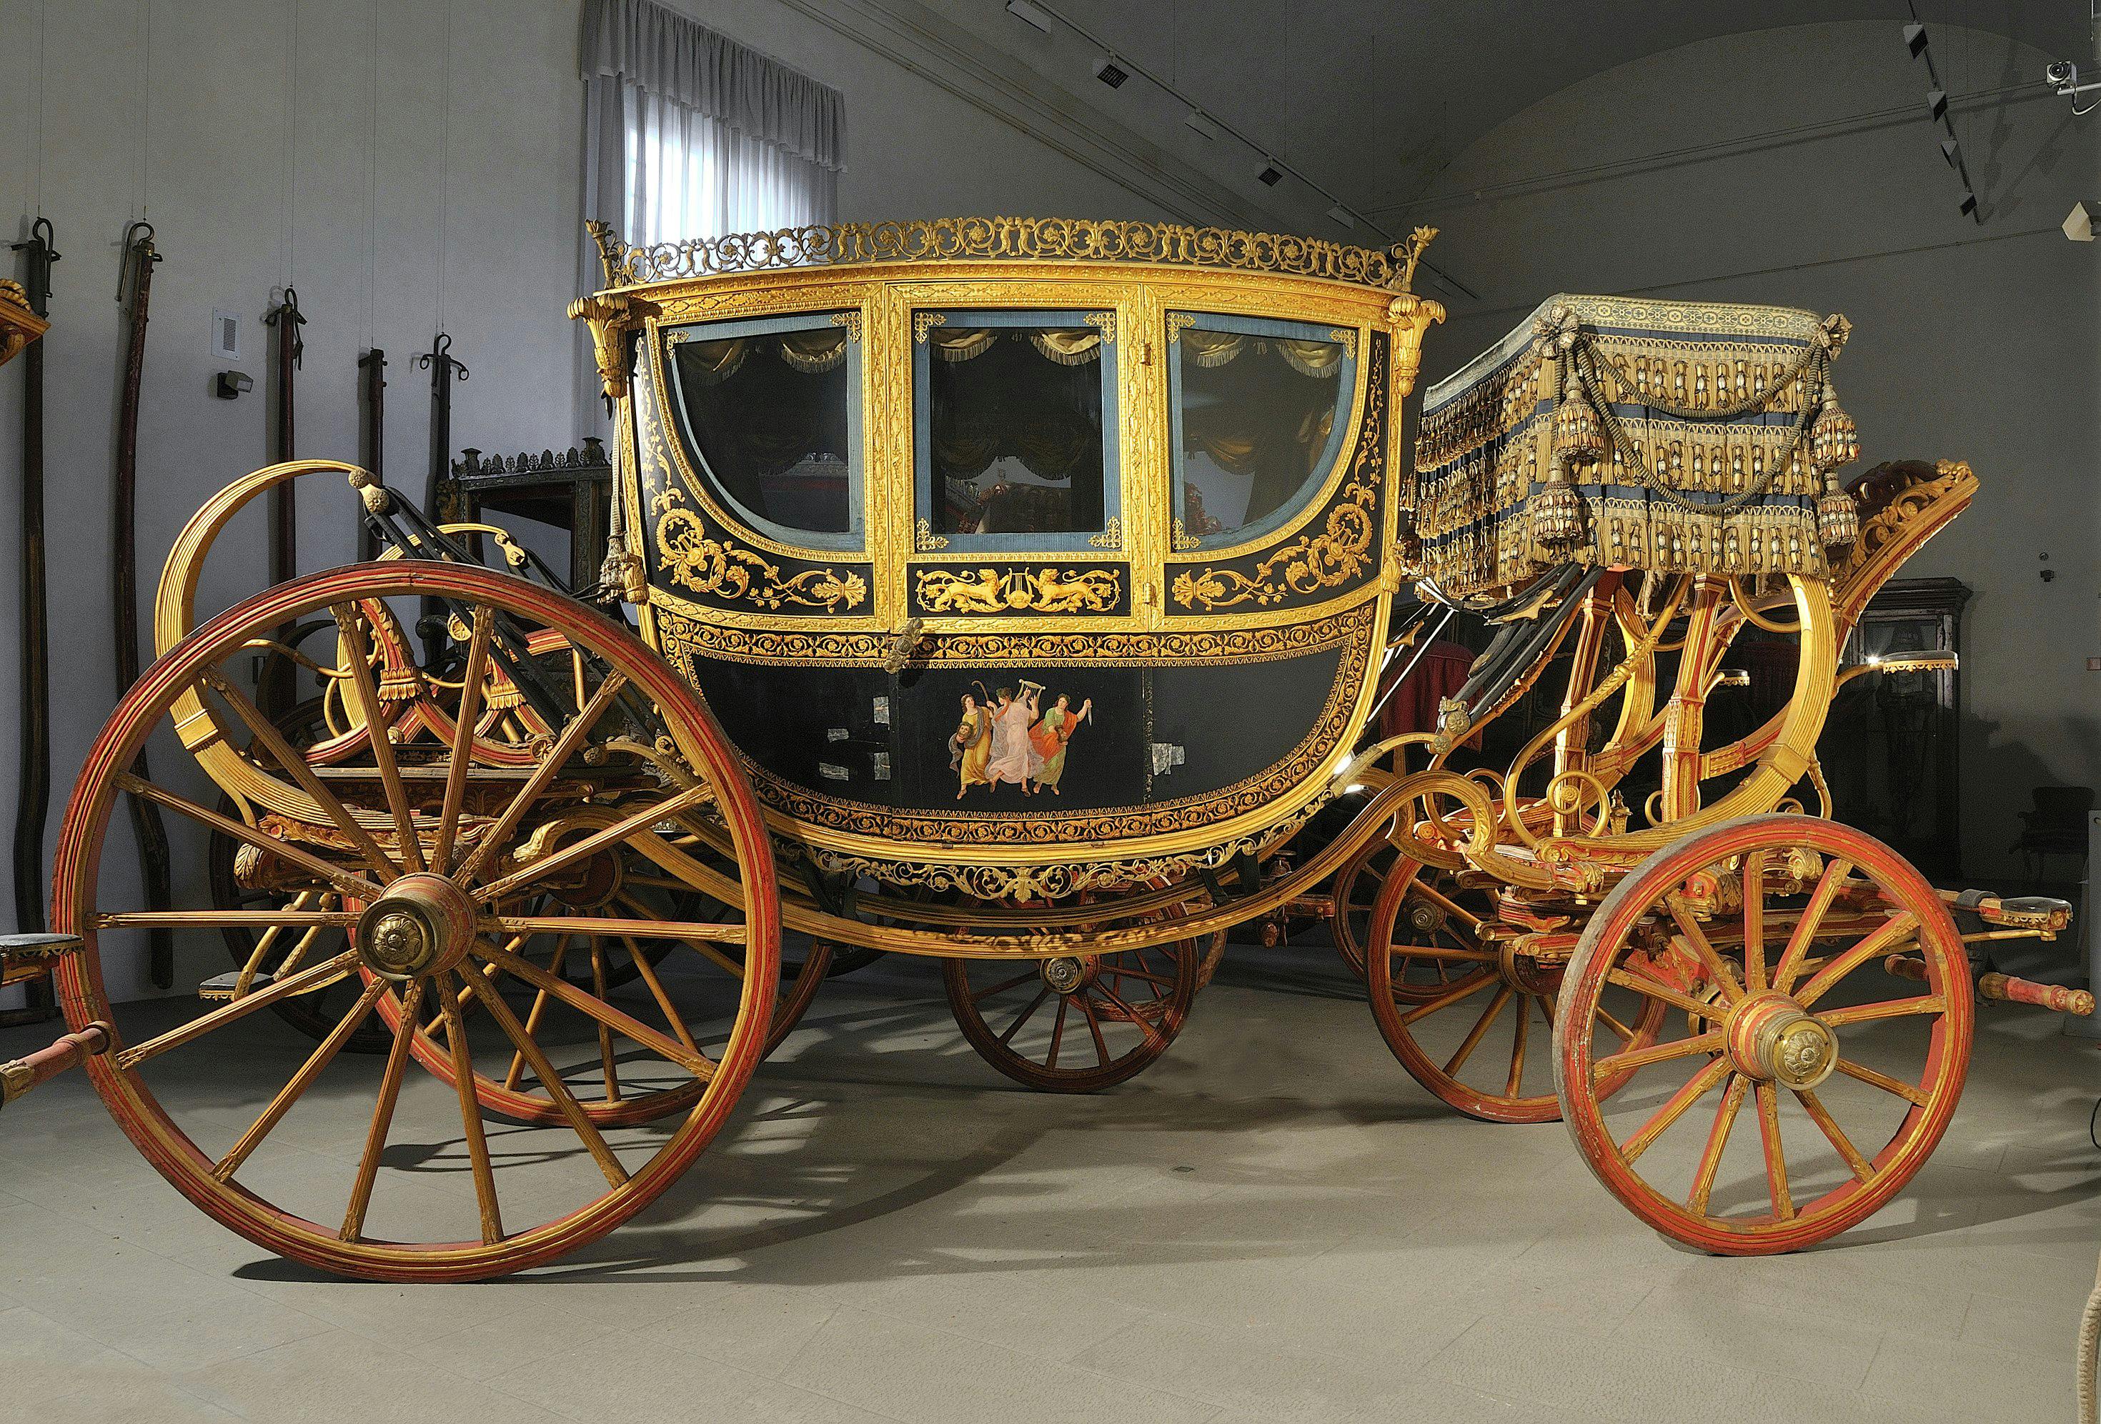
<svg viewBox="0 0 2101 1424">
<path fill-rule="evenodd" d="M 977 546 L 1084 544 L 1116 512 L 1111 313 L 914 315 L 918 517 Z"/>
</svg>

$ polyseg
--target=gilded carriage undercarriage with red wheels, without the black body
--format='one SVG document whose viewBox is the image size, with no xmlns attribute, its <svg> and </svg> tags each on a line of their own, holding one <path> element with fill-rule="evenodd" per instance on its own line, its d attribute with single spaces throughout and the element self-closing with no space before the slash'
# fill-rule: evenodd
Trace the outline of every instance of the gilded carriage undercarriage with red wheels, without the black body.
<svg viewBox="0 0 2101 1424">
<path fill-rule="evenodd" d="M 1139 298 L 1122 300 L 1116 311 L 1128 315 Z M 592 302 L 584 315 L 601 365 L 607 349 L 618 357 L 607 389 L 628 399 L 632 342 L 658 336 L 656 317 L 635 330 L 630 307 Z M 866 313 L 880 302 L 868 298 Z M 1097 321 L 1090 349 L 1105 370 L 1118 319 Z M 1385 319 L 1420 338 L 1431 317 L 1414 298 L 1393 298 Z M 853 334 L 815 357 L 782 338 L 784 359 L 832 359 L 824 353 L 861 340 L 843 326 Z M 929 326 L 918 326 L 922 342 Z M 1195 326 L 1191 344 L 1216 353 L 1229 340 L 1273 340 L 1315 372 L 1332 357 L 1313 342 L 1292 347 L 1298 338 L 1277 336 L 1275 323 L 1221 326 L 1210 347 Z M 1542 332 L 1498 380 L 1519 372 L 1527 401 L 1542 365 L 1548 393 L 1557 370 L 1597 380 L 1595 353 L 1584 368 L 1569 342 L 1555 347 L 1559 330 L 1578 328 Z M 1172 342 L 1181 328 L 1166 332 Z M 1412 361 L 1380 391 L 1387 347 L 1374 334 L 1389 338 L 1368 326 L 1349 351 L 1355 359 L 1364 340 L 1372 359 L 1355 410 L 1359 439 L 1382 447 L 1391 431 L 1368 401 L 1391 395 L 1397 407 Z M 1063 342 L 1053 359 L 1088 351 L 1084 336 L 1053 336 Z M 731 368 L 727 355 L 710 359 Z M 1151 363 L 1151 347 L 1139 363 Z M 1771 368 L 1767 397 L 1784 405 L 1775 393 L 1786 386 L 1801 412 L 1794 441 L 1811 428 L 1811 386 L 1826 370 L 1828 355 L 1796 359 L 1784 378 Z M 1674 410 L 1660 389 L 1651 399 Z M 1540 428 L 1559 441 L 1576 410 L 1563 395 Z M 1735 407 L 1723 410 L 1717 393 L 1714 412 Z M 1826 445 L 1845 443 L 1817 431 Z M 1311 481 L 1305 498 L 1330 498 L 1319 491 L 1338 489 L 1343 466 L 1361 464 L 1368 447 L 1351 456 L 1343 441 L 1338 473 L 1326 487 Z M 1794 449 L 1782 458 L 1807 460 Z M 1555 491 L 1580 468 L 1557 456 L 1544 485 L 1521 485 L 1538 502 L 1536 529 L 1559 527 Z M 212 540 L 250 500 L 305 475 L 347 477 L 391 552 L 193 628 Z M 1267 815 L 1227 823 L 1229 834 L 1183 836 L 1177 855 L 1032 849 L 1004 867 L 998 851 L 975 851 L 962 870 L 941 867 L 954 846 L 901 844 L 895 867 L 870 874 L 866 859 L 784 811 L 765 758 L 710 710 L 719 697 L 704 697 L 691 664 L 662 655 L 649 615 L 664 609 L 637 588 L 635 540 L 622 546 L 616 531 L 609 592 L 643 607 L 645 636 L 590 609 L 496 525 L 433 523 L 336 462 L 258 470 L 208 504 L 170 557 L 155 620 L 162 659 L 111 716 L 67 813 L 59 935 L 13 949 L 17 964 L 57 960 L 71 1031 L 0 1069 L 0 1084 L 13 1098 L 84 1063 L 153 1166 L 269 1250 L 359 1277 L 485 1277 L 574 1250 L 656 1199 L 838 966 L 874 954 L 941 960 L 958 1027 L 992 1067 L 1032 1088 L 1086 1092 L 1166 1052 L 1231 930 L 1275 935 L 1315 914 L 1364 977 L 1401 1067 L 1454 1109 L 1565 1122 L 1607 1191 L 1681 1241 L 1796 1250 L 1880 1210 L 1931 1153 L 1960 1094 L 1975 998 L 2093 1012 L 2082 991 L 1992 970 L 1996 941 L 2055 937 L 2065 905 L 1935 891 L 1887 846 L 1830 819 L 1815 760 L 1845 680 L 1946 666 L 1893 657 L 1840 668 L 1840 653 L 1874 590 L 1973 491 L 1962 466 L 1887 466 L 1840 496 L 1857 527 L 1826 527 L 1843 538 L 1822 538 L 1813 557 L 1796 548 L 1788 567 L 1580 559 L 1561 527 L 1561 544 L 1544 538 L 1517 554 L 1544 571 L 1513 578 L 1504 548 L 1477 588 L 1427 580 L 1418 613 L 1391 622 L 1399 515 L 1395 502 L 1374 506 L 1385 533 L 1366 536 L 1376 554 L 1359 548 L 1351 575 L 1361 584 L 1345 603 L 1376 611 L 1380 655 L 1406 657 L 1439 605 L 1488 611 L 1502 630 L 1433 731 L 1380 739 L 1368 716 L 1378 678 L 1338 683 L 1353 708 L 1338 723 L 1347 737 L 1296 773 Z M 681 502 L 660 494 L 656 508 L 668 529 Z M 1796 508 L 1809 510 L 1811 496 Z M 1317 500 L 1305 510 L 1301 519 L 1317 515 Z M 1805 517 L 1815 529 L 1826 510 Z M 641 508 L 628 519 L 632 529 Z M 1427 506 L 1418 523 L 1439 533 Z M 1116 538 L 1143 544 L 1137 525 L 1132 512 Z M 1286 521 L 1265 538 L 1282 544 L 1296 527 Z M 1777 548 L 1780 536 L 1761 529 Z M 1164 523 L 1158 533 L 1166 550 Z M 914 548 L 927 546 L 918 536 Z M 485 567 L 498 563 L 504 571 Z M 1141 565 L 1122 565 L 1135 588 L 1149 578 Z M 1050 573 L 1013 596 L 1076 586 Z M 1156 588 L 1166 584 L 1158 578 Z M 838 580 L 826 588 L 851 592 Z M 1174 588 L 1216 596 L 1200 582 Z M 1132 626 L 1160 626 L 1158 605 L 1141 603 L 1132 594 Z M 914 617 L 878 643 L 895 676 L 943 636 L 971 636 L 966 628 Z M 1725 666 L 1752 636 L 1788 647 L 1786 695 L 1731 720 L 1712 704 L 1756 691 Z M 294 668 L 303 699 L 263 706 L 248 691 L 273 685 L 258 676 L 269 662 Z M 1469 765 L 1479 760 L 1469 744 L 1527 695 L 1553 699 L 1544 731 L 1506 765 Z M 216 786 L 216 807 L 179 788 L 181 773 L 155 779 L 149 741 L 160 769 L 170 752 L 191 756 Z M 958 802 L 971 792 L 962 765 Z M 145 905 L 103 874 L 120 796 L 151 800 L 206 836 L 210 903 Z M 1141 811 L 1130 815 L 1143 821 Z M 1319 844 L 1305 834 L 1315 813 L 1340 821 Z M 971 865 L 1000 874 L 987 882 Z M 147 928 L 216 937 L 231 970 L 200 977 L 197 1017 L 128 1035 L 103 993 L 99 941 Z M 784 935 L 798 958 L 784 962 Z M 311 1054 L 252 1119 L 176 1122 L 151 1092 L 151 1063 L 263 1008 L 307 1031 Z M 277 1185 L 252 1189 L 267 1138 L 330 1065 L 357 1052 L 384 1065 L 342 1182 L 315 1187 L 328 1212 L 279 1203 Z M 460 1237 L 370 1218 L 412 1059 L 458 1098 L 473 1189 L 473 1231 Z M 567 1195 L 513 1195 L 506 1214 L 502 1182 L 519 1164 L 492 1147 L 504 1124 L 567 1132 L 569 1155 L 588 1170 L 571 1174 Z M 1672 1130 L 1679 1147 L 1651 1153 Z"/>
</svg>

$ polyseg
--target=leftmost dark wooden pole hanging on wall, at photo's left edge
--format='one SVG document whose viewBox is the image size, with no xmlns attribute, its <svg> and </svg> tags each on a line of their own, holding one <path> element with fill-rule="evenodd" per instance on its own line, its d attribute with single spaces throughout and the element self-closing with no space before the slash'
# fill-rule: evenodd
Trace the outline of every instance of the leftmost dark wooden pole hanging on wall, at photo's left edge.
<svg viewBox="0 0 2101 1424">
<path fill-rule="evenodd" d="M 50 620 L 44 586 L 44 347 L 38 336 L 50 317 L 50 265 L 59 260 L 50 218 L 29 225 L 29 239 L 15 250 L 27 254 L 27 271 L 17 292 L 4 292 L 11 330 L 0 351 L 21 361 L 21 521 L 15 548 L 21 565 L 21 680 L 17 683 L 17 727 L 21 760 L 15 796 L 15 928 L 44 933 L 44 821 L 50 813 Z M 19 326 L 15 326 L 19 323 Z M 4 357 L 0 357 L 4 359 Z M 34 1023 L 57 1012 L 50 972 L 21 979 L 23 1008 L 0 1012 L 0 1027 Z"/>
</svg>

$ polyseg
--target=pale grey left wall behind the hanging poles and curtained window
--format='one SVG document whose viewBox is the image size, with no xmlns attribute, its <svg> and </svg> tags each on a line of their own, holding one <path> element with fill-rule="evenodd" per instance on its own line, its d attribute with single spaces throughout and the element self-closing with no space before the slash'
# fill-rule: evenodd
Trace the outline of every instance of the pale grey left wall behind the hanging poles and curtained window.
<svg viewBox="0 0 2101 1424">
<path fill-rule="evenodd" d="M 992 118 L 918 71 L 779 0 L 689 4 L 706 23 L 838 86 L 853 166 L 849 218 L 943 212 L 1158 216 L 1126 187 Z M 40 34 L 42 32 L 42 34 Z M 410 368 L 439 323 L 471 378 L 456 445 L 571 443 L 576 342 L 563 307 L 578 271 L 582 84 L 576 0 L 4 0 L 15 63 L 0 86 L 0 212 L 53 218 L 48 512 L 53 605 L 53 838 L 74 771 L 118 697 L 109 653 L 109 479 L 122 309 L 118 244 L 134 216 L 166 254 L 141 403 L 141 615 L 168 542 L 227 481 L 267 464 L 267 330 L 294 284 L 309 313 L 298 378 L 303 456 L 357 458 L 357 357 L 391 359 L 389 473 L 420 487 L 429 382 Z M 296 86 L 296 97 L 294 97 Z M 11 271 L 11 269 L 0 269 Z M 240 313 L 256 391 L 210 395 L 212 309 Z M 0 508 L 19 500 L 19 368 L 0 376 Z M 13 533 L 0 563 L 13 569 Z M 208 571 L 216 611 L 265 582 L 258 517 Z M 300 565 L 353 554 L 351 496 L 300 489 Z M 0 683 L 17 666 L 17 584 L 0 580 Z M 15 699 L 0 695 L 0 746 Z M 162 775 L 176 760 L 166 754 Z M 15 758 L 0 756 L 0 821 Z M 191 788 L 202 794 L 204 788 Z M 113 876 L 130 846 L 113 832 Z M 202 846 L 174 825 L 176 872 Z M 0 876 L 6 867 L 0 865 Z M 195 903 L 195 901 L 189 901 Z M 0 909 L 0 918 L 11 918 Z M 105 937 L 116 996 L 143 989 L 137 951 Z M 219 954 L 216 945 L 187 945 Z M 216 964 L 208 972 L 216 972 Z M 179 979 L 179 983 L 185 983 Z"/>
</svg>

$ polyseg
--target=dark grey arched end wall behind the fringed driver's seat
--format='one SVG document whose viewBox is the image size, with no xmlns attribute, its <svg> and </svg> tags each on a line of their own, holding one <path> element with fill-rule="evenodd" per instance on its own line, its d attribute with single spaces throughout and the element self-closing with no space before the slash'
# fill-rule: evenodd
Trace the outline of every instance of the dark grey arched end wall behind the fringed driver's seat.
<svg viewBox="0 0 2101 1424">
<path fill-rule="evenodd" d="M 1895 21 L 1731 36 L 1572 84 L 1460 153 L 1408 218 L 1439 225 L 1431 256 L 1483 292 L 1431 332 L 1429 378 L 1557 290 L 1853 319 L 1836 382 L 1864 464 L 1960 458 L 1983 481 L 1906 573 L 1975 590 L 1962 851 L 1990 880 L 2015 870 L 2032 786 L 2101 786 L 2101 246 L 2059 233 L 2101 195 L 2101 113 L 2044 97 L 2038 50 L 1943 25 L 1933 48 L 1954 92 L 2019 86 L 1958 109 L 1983 225 L 1956 208 Z"/>
</svg>

